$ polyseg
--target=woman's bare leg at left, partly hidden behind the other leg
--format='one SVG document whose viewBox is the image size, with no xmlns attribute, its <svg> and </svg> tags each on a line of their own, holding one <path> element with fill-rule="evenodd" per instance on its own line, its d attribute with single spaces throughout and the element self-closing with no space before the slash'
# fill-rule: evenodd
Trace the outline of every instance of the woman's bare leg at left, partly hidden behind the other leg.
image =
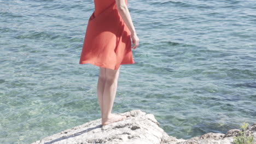
<svg viewBox="0 0 256 144">
<path fill-rule="evenodd" d="M 98 75 L 98 84 L 97 84 L 97 97 L 98 97 L 98 104 L 100 105 L 101 109 L 101 117 L 103 113 L 103 92 L 106 82 L 106 68 L 100 67 L 100 74 Z"/>
</svg>

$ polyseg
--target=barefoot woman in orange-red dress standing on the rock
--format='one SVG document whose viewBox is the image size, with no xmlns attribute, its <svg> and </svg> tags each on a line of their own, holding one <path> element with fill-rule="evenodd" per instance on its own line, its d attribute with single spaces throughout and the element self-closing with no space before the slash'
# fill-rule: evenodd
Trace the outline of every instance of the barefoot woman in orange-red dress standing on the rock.
<svg viewBox="0 0 256 144">
<path fill-rule="evenodd" d="M 79 64 L 100 67 L 97 98 L 101 123 L 121 121 L 126 116 L 111 113 L 121 64 L 133 64 L 132 51 L 139 44 L 127 0 L 94 0 L 95 10 L 86 28 Z M 131 38 L 132 44 L 131 47 Z"/>
</svg>

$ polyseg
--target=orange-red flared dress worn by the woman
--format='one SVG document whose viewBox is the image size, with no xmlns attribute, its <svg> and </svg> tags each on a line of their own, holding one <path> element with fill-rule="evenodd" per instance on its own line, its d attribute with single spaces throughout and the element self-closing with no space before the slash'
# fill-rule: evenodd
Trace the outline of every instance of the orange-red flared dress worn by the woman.
<svg viewBox="0 0 256 144">
<path fill-rule="evenodd" d="M 127 5 L 127 0 L 125 0 Z M 94 0 L 95 10 L 88 20 L 79 64 L 117 70 L 133 64 L 131 32 L 118 12 L 115 0 Z"/>
</svg>

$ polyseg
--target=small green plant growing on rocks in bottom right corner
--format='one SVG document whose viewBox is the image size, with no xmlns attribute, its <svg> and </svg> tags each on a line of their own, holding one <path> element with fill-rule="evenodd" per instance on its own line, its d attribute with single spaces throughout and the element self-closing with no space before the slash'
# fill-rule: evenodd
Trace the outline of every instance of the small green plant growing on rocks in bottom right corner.
<svg viewBox="0 0 256 144">
<path fill-rule="evenodd" d="M 234 144 L 253 144 L 253 135 L 250 136 L 246 136 L 246 128 L 248 127 L 248 123 L 243 122 L 243 125 L 241 125 L 241 129 L 242 131 L 240 131 L 240 135 L 239 136 L 234 136 L 233 137 L 233 143 Z"/>
</svg>

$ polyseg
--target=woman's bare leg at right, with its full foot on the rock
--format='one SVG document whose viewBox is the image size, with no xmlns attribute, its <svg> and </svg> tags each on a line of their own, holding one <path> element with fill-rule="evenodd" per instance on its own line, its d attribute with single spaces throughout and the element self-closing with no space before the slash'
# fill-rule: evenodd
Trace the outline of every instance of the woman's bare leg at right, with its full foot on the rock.
<svg viewBox="0 0 256 144">
<path fill-rule="evenodd" d="M 117 70 L 106 69 L 106 82 L 103 90 L 103 113 L 102 124 L 121 121 L 126 116 L 113 115 L 111 113 L 114 104 L 115 95 L 117 93 L 118 77 L 120 67 Z"/>
</svg>

